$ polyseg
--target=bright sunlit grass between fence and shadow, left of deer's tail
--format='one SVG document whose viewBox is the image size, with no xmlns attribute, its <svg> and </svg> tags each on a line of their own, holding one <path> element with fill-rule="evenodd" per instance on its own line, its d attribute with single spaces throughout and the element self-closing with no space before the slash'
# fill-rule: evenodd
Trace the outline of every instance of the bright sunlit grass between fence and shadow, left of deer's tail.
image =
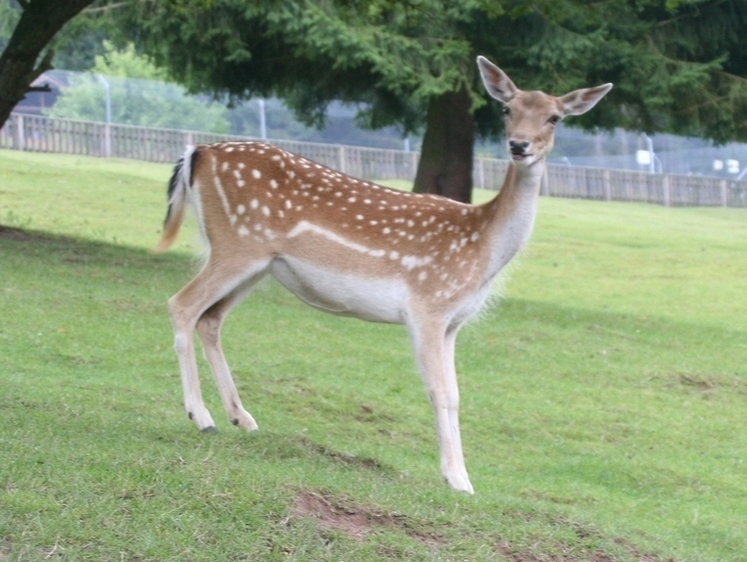
<svg viewBox="0 0 747 562">
<path fill-rule="evenodd" d="M 0 224 L 152 247 L 166 215 L 171 168 L 137 160 L 0 150 Z M 176 249 L 199 247 L 194 232 L 185 232 Z"/>
</svg>

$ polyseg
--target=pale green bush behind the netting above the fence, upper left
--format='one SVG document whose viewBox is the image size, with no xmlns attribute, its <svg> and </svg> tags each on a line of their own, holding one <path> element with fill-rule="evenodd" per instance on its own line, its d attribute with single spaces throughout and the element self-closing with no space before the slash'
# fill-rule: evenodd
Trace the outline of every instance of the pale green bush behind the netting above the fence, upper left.
<svg viewBox="0 0 747 562">
<path fill-rule="evenodd" d="M 94 74 L 72 75 L 48 115 L 104 121 L 106 89 L 96 76 L 103 75 L 114 123 L 228 132 L 222 106 L 185 96 L 183 87 L 162 82 L 164 71 L 137 55 L 132 44 L 122 50 L 108 42 L 104 47 L 105 53 L 95 57 Z"/>
</svg>

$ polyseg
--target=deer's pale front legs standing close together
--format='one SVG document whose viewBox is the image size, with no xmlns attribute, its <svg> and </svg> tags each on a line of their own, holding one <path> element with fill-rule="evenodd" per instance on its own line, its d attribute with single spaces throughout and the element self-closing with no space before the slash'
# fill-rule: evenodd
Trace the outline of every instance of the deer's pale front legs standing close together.
<svg viewBox="0 0 747 562">
<path fill-rule="evenodd" d="M 455 490 L 472 494 L 459 434 L 459 389 L 454 368 L 457 330 L 446 330 L 435 319 L 409 328 L 420 374 L 436 416 L 441 474 Z"/>
</svg>

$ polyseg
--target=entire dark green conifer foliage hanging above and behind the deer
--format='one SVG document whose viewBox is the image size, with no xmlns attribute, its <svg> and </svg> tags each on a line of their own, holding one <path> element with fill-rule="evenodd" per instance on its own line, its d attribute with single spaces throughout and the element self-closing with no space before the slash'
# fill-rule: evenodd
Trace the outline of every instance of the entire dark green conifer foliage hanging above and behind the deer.
<svg viewBox="0 0 747 562">
<path fill-rule="evenodd" d="M 484 135 L 501 131 L 477 54 L 525 89 L 615 88 L 584 128 L 747 138 L 741 0 L 369 0 L 143 3 L 125 25 L 192 91 L 274 93 L 308 123 L 332 99 L 361 122 L 421 128 L 428 100 L 469 86 Z"/>
</svg>

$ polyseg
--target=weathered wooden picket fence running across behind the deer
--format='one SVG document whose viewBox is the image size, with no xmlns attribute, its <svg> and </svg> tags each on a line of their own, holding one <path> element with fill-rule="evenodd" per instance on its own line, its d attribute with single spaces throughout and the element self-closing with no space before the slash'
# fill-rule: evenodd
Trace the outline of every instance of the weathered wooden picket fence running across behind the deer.
<svg viewBox="0 0 747 562">
<path fill-rule="evenodd" d="M 235 135 L 74 121 L 19 113 L 13 113 L 0 129 L 0 148 L 153 162 L 175 162 L 187 144 L 248 139 Z M 289 152 L 368 180 L 412 181 L 418 166 L 417 152 L 286 140 L 270 142 Z M 475 187 L 500 189 L 507 168 L 507 160 L 476 158 L 473 167 Z M 605 201 L 639 201 L 665 206 L 747 207 L 747 181 L 557 164 L 548 165 L 542 194 Z"/>
</svg>

